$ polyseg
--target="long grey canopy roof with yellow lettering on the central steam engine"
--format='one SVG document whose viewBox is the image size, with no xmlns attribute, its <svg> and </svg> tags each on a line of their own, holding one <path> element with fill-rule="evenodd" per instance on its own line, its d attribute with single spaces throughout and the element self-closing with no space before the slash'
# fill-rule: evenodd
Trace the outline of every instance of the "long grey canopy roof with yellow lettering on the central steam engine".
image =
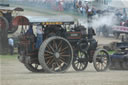
<svg viewBox="0 0 128 85">
<path fill-rule="evenodd" d="M 71 16 L 17 16 L 13 20 L 13 25 L 27 25 L 30 23 L 43 25 L 68 25 L 74 24 L 74 18 Z"/>
</svg>

